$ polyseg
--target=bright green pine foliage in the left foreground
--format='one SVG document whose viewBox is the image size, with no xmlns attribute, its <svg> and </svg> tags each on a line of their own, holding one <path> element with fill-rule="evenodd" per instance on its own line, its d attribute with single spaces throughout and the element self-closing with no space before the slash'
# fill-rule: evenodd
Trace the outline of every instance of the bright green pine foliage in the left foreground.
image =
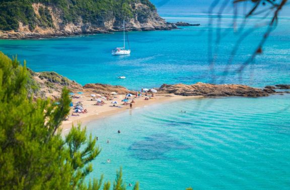
<svg viewBox="0 0 290 190">
<path fill-rule="evenodd" d="M 59 104 L 28 98 L 29 72 L 0 52 L 0 189 L 110 189 L 103 176 L 86 183 L 100 153 L 86 128 L 73 126 L 65 138 L 59 127 L 69 113 L 66 88 Z M 117 174 L 116 189 L 125 189 Z M 136 187 L 138 189 L 138 187 Z"/>
</svg>

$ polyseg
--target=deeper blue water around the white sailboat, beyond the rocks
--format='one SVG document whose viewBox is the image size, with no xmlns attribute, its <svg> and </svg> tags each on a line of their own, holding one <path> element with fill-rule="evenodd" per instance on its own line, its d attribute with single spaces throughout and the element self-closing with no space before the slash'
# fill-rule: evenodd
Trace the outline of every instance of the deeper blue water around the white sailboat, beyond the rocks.
<svg viewBox="0 0 290 190">
<path fill-rule="evenodd" d="M 198 81 L 214 83 L 244 83 L 253 86 L 290 83 L 289 77 L 289 19 L 283 18 L 269 38 L 263 56 L 246 67 L 242 75 L 235 73 L 251 55 L 261 39 L 263 28 L 257 29 L 241 44 L 238 56 L 231 63 L 227 77 L 223 75 L 237 34 L 231 29 L 233 18 L 227 16 L 221 28 L 227 36 L 219 46 L 213 79 L 207 56 L 207 24 L 205 16 L 167 15 L 168 21 L 200 23 L 200 27 L 186 27 L 173 31 L 130 32 L 130 56 L 111 56 L 111 49 L 122 45 L 122 33 L 97 34 L 42 40 L 0 40 L 0 50 L 20 60 L 35 71 L 56 71 L 81 84 L 119 84 L 130 89 L 159 87 L 163 83 Z M 251 19 L 249 24 L 258 22 Z M 240 23 L 241 20 L 238 20 Z M 125 80 L 117 76 L 124 75 Z M 240 77 L 242 76 L 242 77 Z"/>
</svg>

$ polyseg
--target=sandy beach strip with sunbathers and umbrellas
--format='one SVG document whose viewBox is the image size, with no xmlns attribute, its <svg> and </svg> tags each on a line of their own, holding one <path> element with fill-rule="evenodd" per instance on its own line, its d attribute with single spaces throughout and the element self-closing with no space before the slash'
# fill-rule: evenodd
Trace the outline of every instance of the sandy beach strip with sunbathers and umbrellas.
<svg viewBox="0 0 290 190">
<path fill-rule="evenodd" d="M 68 121 L 64 121 L 62 123 L 62 130 L 66 131 L 71 128 L 71 126 L 77 125 L 79 122 L 85 126 L 88 122 L 98 120 L 100 118 L 105 118 L 112 116 L 114 114 L 118 114 L 124 112 L 126 110 L 130 110 L 129 105 L 123 105 L 122 100 L 125 98 L 125 94 L 116 95 L 114 96 L 113 100 L 104 100 L 105 104 L 103 106 L 96 106 L 95 104 L 97 101 L 92 101 L 93 98 L 90 94 L 82 94 L 79 96 L 79 99 L 72 99 L 74 107 L 71 107 L 70 114 Z M 179 100 L 187 100 L 187 99 L 194 99 L 194 98 L 202 98 L 202 97 L 183 97 L 183 96 L 176 96 L 174 94 L 156 94 L 155 97 L 151 98 L 150 100 L 145 100 L 145 96 L 140 98 L 131 98 L 129 99 L 128 103 L 134 100 L 135 103 L 132 104 L 132 110 L 137 108 L 142 108 L 144 106 L 155 105 L 160 103 L 167 103 L 172 101 L 179 101 Z M 113 107 L 112 102 L 116 101 L 118 104 Z M 75 105 L 81 102 L 83 108 L 88 111 L 88 113 L 74 113 L 75 112 Z M 73 116 L 79 115 L 79 116 Z"/>
</svg>

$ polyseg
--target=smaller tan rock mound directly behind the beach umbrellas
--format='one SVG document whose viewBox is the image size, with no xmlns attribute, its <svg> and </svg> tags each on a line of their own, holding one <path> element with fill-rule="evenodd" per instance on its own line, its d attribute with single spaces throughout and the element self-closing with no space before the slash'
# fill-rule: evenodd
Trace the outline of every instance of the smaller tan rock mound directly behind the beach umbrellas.
<svg viewBox="0 0 290 190">
<path fill-rule="evenodd" d="M 134 91 L 128 90 L 124 86 L 119 85 L 109 85 L 109 84 L 86 84 L 84 89 L 92 90 L 95 93 L 109 94 L 111 92 L 117 92 L 118 94 L 134 93 Z"/>
</svg>

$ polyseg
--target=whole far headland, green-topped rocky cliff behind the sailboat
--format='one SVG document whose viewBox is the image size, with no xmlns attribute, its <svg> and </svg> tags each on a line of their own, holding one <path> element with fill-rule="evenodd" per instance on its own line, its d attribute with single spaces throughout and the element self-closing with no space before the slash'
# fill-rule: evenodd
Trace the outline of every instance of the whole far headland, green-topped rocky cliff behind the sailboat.
<svg viewBox="0 0 290 190">
<path fill-rule="evenodd" d="M 170 30 L 149 0 L 0 1 L 0 38 L 47 38 L 120 31 Z"/>
</svg>

